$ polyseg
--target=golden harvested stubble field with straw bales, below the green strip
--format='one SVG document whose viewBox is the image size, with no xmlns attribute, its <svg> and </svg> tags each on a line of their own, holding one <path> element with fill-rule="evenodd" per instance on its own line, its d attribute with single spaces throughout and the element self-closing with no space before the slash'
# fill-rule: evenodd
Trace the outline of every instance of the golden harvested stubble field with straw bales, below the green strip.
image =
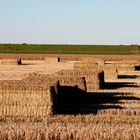
<svg viewBox="0 0 140 140">
<path fill-rule="evenodd" d="M 0 140 L 140 139 L 139 56 L 0 58 Z"/>
</svg>

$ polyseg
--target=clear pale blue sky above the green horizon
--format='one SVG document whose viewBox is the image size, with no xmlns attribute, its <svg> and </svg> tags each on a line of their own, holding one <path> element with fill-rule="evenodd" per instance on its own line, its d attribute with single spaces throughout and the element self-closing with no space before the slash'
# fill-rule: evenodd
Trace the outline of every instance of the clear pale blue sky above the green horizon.
<svg viewBox="0 0 140 140">
<path fill-rule="evenodd" d="M 0 43 L 140 44 L 140 0 L 0 0 Z"/>
</svg>

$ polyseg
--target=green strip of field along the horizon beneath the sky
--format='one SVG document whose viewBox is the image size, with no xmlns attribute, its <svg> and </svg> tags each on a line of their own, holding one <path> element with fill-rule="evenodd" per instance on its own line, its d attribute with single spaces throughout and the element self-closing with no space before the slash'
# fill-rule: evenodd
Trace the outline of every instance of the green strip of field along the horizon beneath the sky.
<svg viewBox="0 0 140 140">
<path fill-rule="evenodd" d="M 138 45 L 0 44 L 0 53 L 133 55 L 139 51 Z"/>
</svg>

